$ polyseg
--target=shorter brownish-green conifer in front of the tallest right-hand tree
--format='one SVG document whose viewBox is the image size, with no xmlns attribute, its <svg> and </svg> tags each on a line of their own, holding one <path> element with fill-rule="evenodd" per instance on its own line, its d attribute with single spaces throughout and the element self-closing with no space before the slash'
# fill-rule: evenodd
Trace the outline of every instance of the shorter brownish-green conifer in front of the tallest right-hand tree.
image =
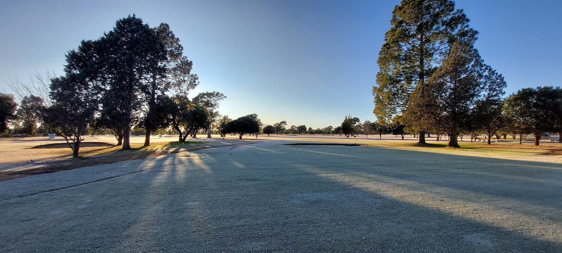
<svg viewBox="0 0 562 253">
<path fill-rule="evenodd" d="M 448 146 L 459 147 L 457 136 L 467 126 L 477 124 L 475 115 L 497 116 L 492 115 L 497 111 L 478 106 L 501 103 L 505 85 L 503 76 L 484 65 L 476 49 L 455 43 L 428 82 L 416 87 L 409 110 L 404 114 L 406 122 L 416 129 L 445 132 Z M 479 115 L 476 110 L 487 113 Z M 492 127 L 491 124 L 487 127 Z"/>
</svg>

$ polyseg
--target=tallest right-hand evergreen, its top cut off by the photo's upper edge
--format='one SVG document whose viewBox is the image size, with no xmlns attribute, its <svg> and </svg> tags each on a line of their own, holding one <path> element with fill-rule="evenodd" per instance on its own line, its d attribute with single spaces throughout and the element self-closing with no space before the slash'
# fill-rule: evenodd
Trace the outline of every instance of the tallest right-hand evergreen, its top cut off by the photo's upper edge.
<svg viewBox="0 0 562 253">
<path fill-rule="evenodd" d="M 409 108 L 414 89 L 427 82 L 454 42 L 476 40 L 478 32 L 468 22 L 451 0 L 402 0 L 394 8 L 373 87 L 378 119 L 388 121 Z M 417 130 L 418 142 L 425 143 L 425 129 Z"/>
</svg>

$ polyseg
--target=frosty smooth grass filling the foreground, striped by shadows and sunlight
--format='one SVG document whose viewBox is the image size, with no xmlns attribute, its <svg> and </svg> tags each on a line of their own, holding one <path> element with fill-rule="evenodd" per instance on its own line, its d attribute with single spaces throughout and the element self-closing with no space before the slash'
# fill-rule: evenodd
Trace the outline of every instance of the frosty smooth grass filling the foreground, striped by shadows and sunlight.
<svg viewBox="0 0 562 253">
<path fill-rule="evenodd" d="M 560 189 L 559 164 L 280 144 L 175 153 L 139 162 L 122 163 L 137 166 L 139 173 L 19 200 L 29 206 L 39 202 L 40 209 L 23 205 L 16 210 L 13 205 L 22 205 L 16 200 L 0 202 L 4 228 L 11 228 L 0 239 L 10 245 L 3 249 L 562 249 L 560 216 L 541 216 L 560 210 L 560 196 L 541 192 Z M 546 185 L 534 189 L 541 183 Z M 495 196 L 495 189 L 511 193 L 498 191 Z M 541 200 L 532 200 L 537 196 Z M 544 196 L 558 204 L 543 203 Z M 492 205 L 493 200 L 497 203 Z M 537 214 L 514 203 L 534 206 Z M 537 224 L 543 227 L 533 227 Z M 24 232 L 29 229 L 33 233 Z"/>
</svg>

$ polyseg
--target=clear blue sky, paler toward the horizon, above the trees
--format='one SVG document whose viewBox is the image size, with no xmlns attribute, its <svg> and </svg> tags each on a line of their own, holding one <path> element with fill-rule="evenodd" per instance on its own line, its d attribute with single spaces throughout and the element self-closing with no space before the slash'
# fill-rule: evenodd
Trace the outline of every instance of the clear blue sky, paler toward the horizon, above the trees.
<svg viewBox="0 0 562 253">
<path fill-rule="evenodd" d="M 170 25 L 221 114 L 323 128 L 374 120 L 377 57 L 400 1 L 2 1 L 0 80 L 62 73 L 64 54 L 135 13 Z M 506 92 L 560 85 L 560 1 L 456 1 L 480 32 L 482 57 Z M 0 91 L 10 89 L 0 82 Z"/>
</svg>

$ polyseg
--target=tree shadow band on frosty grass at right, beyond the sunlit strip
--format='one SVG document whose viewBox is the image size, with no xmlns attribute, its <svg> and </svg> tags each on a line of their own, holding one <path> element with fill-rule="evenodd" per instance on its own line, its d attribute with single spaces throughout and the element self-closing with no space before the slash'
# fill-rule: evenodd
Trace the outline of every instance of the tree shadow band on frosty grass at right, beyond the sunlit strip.
<svg viewBox="0 0 562 253">
<path fill-rule="evenodd" d="M 350 160 L 346 162 L 345 168 L 328 166 L 324 169 L 345 173 L 371 173 L 562 209 L 562 201 L 555 201 L 561 197 L 562 164 L 443 153 L 430 153 L 428 156 L 427 152 L 382 147 L 357 148 L 366 148 L 364 152 L 384 156 L 373 159 L 375 164 Z M 305 149 L 303 152 L 319 152 L 324 148 L 312 149 L 314 150 Z M 332 155 L 341 156 L 337 152 Z M 407 158 L 397 160 L 396 157 Z M 387 158 L 392 160 L 387 161 Z"/>
</svg>

